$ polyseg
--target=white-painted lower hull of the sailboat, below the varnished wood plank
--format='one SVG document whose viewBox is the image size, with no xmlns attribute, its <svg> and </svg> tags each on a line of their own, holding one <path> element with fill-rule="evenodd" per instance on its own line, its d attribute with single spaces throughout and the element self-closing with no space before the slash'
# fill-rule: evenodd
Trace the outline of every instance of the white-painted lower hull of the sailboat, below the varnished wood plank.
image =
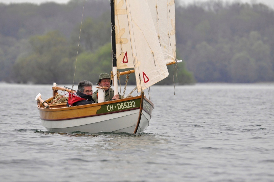
<svg viewBox="0 0 274 182">
<path fill-rule="evenodd" d="M 48 130 L 56 133 L 81 131 L 88 133 L 114 132 L 114 133 L 134 133 L 136 127 L 136 118 L 139 116 L 139 110 L 114 113 L 103 116 L 85 117 L 79 119 L 63 121 L 45 121 L 42 125 Z M 148 117 L 145 117 L 148 116 Z M 141 117 L 137 132 L 144 131 L 150 122 L 148 114 Z"/>
</svg>

